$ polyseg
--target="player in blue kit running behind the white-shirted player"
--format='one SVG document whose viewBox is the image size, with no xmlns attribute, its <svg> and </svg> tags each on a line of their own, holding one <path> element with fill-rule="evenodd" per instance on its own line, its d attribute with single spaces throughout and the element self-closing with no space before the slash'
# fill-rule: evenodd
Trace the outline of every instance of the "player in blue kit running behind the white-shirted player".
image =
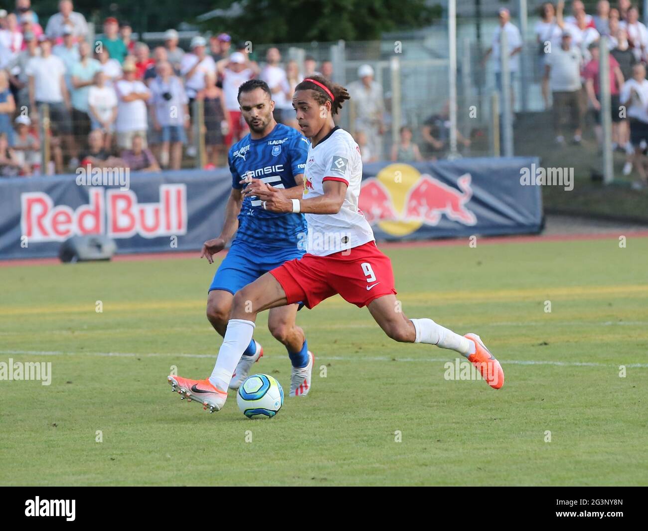
<svg viewBox="0 0 648 531">
<path fill-rule="evenodd" d="M 225 335 L 234 294 L 270 269 L 301 258 L 307 236 L 303 214 L 264 210 L 255 193 L 268 190 L 266 185 L 270 184 L 283 190 L 286 198 L 301 198 L 310 143 L 297 130 L 275 121 L 272 92 L 264 81 L 244 82 L 238 89 L 238 103 L 250 132 L 229 150 L 227 160 L 232 174 L 232 191 L 225 222 L 218 238 L 205 241 L 201 254 L 201 258 L 204 256 L 213 264 L 213 255 L 222 251 L 236 233 L 209 286 L 207 297 L 207 319 L 221 336 Z M 298 307 L 298 304 L 291 304 L 274 308 L 268 315 L 268 328 L 285 345 L 292 363 L 292 397 L 304 396 L 310 391 L 314 362 L 304 331 L 295 325 Z M 261 345 L 251 340 L 229 388 L 238 389 L 248 377 L 252 364 L 262 355 Z M 200 389 L 194 392 L 200 393 Z"/>
</svg>

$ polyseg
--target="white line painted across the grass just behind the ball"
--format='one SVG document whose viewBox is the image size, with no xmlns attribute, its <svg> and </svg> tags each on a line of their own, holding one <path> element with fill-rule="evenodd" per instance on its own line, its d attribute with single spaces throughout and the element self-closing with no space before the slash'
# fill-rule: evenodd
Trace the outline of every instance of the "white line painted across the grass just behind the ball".
<svg viewBox="0 0 648 531">
<path fill-rule="evenodd" d="M 149 352 L 145 354 L 137 354 L 135 352 L 63 352 L 63 351 L 0 351 L 0 354 L 11 355 L 30 355 L 30 356 L 115 356 L 118 358 L 213 358 L 216 359 L 214 354 L 172 354 L 165 352 Z M 280 357 L 280 356 L 277 356 Z M 264 358 L 271 359 L 272 356 L 264 356 Z M 333 360 L 339 362 L 356 362 L 356 361 L 369 361 L 369 362 L 452 362 L 450 356 L 448 358 L 389 358 L 388 356 L 318 356 L 318 360 Z M 1 361 L 1 360 L 0 360 Z M 500 360 L 503 365 L 557 365 L 559 367 L 618 367 L 625 365 L 627 368 L 641 368 L 648 369 L 648 364 L 599 364 L 596 362 L 551 362 L 546 360 Z"/>
</svg>

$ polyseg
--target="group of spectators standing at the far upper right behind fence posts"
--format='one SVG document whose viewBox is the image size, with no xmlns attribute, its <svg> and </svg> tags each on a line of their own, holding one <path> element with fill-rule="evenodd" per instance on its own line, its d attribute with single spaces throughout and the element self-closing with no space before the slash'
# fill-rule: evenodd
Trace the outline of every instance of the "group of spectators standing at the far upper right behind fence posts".
<svg viewBox="0 0 648 531">
<path fill-rule="evenodd" d="M 574 0 L 570 9 L 567 15 L 564 1 L 545 2 L 535 26 L 542 95 L 553 114 L 555 142 L 579 145 L 588 113 L 594 118 L 597 142 L 603 142 L 599 46 L 605 45 L 610 54 L 606 75 L 612 149 L 625 153 L 623 174 L 630 175 L 634 167 L 638 179 L 632 186 L 643 188 L 648 184 L 648 30 L 629 0 L 619 0 L 614 8 L 600 0 L 594 15 L 581 0 Z"/>
</svg>

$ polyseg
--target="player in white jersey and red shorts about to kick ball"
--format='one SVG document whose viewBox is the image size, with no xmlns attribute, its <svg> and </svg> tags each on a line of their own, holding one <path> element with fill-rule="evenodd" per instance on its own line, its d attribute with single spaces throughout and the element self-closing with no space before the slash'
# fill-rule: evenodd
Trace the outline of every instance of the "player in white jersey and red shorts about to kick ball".
<svg viewBox="0 0 648 531">
<path fill-rule="evenodd" d="M 358 209 L 362 161 L 347 131 L 333 115 L 349 99 L 345 88 L 321 76 L 295 87 L 292 105 L 297 123 L 310 139 L 302 199 L 290 199 L 273 186 L 259 186 L 254 195 L 272 212 L 303 212 L 308 222 L 307 253 L 251 282 L 234 296 L 223 343 L 211 377 L 189 380 L 169 376 L 174 390 L 220 410 L 227 386 L 248 347 L 259 312 L 303 301 L 313 308 L 339 294 L 345 301 L 367 306 L 376 323 L 395 341 L 428 343 L 459 352 L 480 369 L 494 389 L 504 384 L 500 362 L 476 334 L 460 336 L 432 319 L 408 319 L 399 311 L 389 258 L 378 251 L 373 230 Z"/>
</svg>

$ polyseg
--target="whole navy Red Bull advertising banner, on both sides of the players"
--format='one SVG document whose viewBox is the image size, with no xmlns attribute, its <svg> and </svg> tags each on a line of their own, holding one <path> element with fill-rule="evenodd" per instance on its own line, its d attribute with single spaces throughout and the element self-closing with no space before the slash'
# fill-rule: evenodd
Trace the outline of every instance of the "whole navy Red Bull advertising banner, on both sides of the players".
<svg viewBox="0 0 648 531">
<path fill-rule="evenodd" d="M 536 158 L 464 158 L 364 167 L 358 207 L 380 240 L 539 232 Z M 56 256 L 72 236 L 104 234 L 119 253 L 200 249 L 218 236 L 231 191 L 227 169 L 132 173 L 123 186 L 75 175 L 0 180 L 0 258 Z"/>
</svg>

